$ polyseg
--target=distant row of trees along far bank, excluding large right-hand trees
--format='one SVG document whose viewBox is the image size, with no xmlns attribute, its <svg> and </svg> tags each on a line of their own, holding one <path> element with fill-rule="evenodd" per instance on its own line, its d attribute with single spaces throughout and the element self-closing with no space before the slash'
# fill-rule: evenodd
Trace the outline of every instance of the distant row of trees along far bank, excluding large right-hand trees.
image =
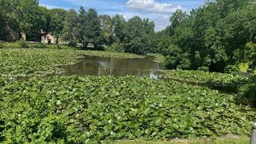
<svg viewBox="0 0 256 144">
<path fill-rule="evenodd" d="M 135 16 L 126 21 L 122 15 L 99 15 L 94 9 L 79 11 L 51 9 L 39 6 L 36 0 L 0 0 L 0 30 L 9 26 L 27 35 L 28 40 L 40 40 L 39 31 L 51 32 L 57 38 L 82 47 L 93 44 L 95 50 L 102 50 L 102 45 L 112 46 L 115 51 L 146 54 L 156 47 L 151 47 L 155 35 L 155 23 L 150 19 Z M 1 31 L 4 39 L 4 32 Z"/>
</svg>

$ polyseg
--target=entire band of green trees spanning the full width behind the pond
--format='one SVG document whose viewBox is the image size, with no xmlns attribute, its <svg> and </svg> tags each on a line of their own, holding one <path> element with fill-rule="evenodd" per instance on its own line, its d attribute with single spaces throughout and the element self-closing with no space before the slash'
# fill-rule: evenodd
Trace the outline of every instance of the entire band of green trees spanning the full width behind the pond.
<svg viewBox="0 0 256 144">
<path fill-rule="evenodd" d="M 256 5 L 253 0 L 208 0 L 189 14 L 176 10 L 170 26 L 155 32 L 150 19 L 99 15 L 94 9 L 79 11 L 39 6 L 36 0 L 0 0 L 0 30 L 10 26 L 27 39 L 39 40 L 42 29 L 71 46 L 103 45 L 109 51 L 166 56 L 167 68 L 226 72 L 237 64 L 256 65 Z M 0 35 L 5 35 L 0 31 Z M 1 38 L 0 36 L 0 39 Z"/>
</svg>

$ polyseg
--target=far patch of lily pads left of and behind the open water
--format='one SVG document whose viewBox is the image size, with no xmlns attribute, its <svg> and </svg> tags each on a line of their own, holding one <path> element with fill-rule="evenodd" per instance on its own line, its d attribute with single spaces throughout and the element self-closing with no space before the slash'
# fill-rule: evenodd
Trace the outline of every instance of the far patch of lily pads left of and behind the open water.
<svg viewBox="0 0 256 144">
<path fill-rule="evenodd" d="M 52 49 L 0 50 L 0 76 L 42 76 L 61 72 L 56 65 L 74 64 L 78 56 L 142 58 L 134 54 L 105 51 Z"/>
</svg>

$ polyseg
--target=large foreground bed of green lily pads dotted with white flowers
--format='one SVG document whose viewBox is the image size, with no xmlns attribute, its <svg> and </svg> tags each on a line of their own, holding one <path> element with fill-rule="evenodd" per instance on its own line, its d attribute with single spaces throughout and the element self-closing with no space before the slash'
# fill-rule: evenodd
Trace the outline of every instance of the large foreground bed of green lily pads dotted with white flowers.
<svg viewBox="0 0 256 144">
<path fill-rule="evenodd" d="M 3 143 L 215 138 L 250 134 L 256 118 L 230 95 L 175 81 L 56 76 L 0 85 Z"/>
</svg>

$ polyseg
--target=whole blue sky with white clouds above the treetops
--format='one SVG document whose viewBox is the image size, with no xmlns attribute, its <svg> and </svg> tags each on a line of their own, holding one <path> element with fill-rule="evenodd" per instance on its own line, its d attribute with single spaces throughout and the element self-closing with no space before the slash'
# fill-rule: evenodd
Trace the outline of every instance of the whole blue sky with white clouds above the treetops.
<svg viewBox="0 0 256 144">
<path fill-rule="evenodd" d="M 204 4 L 204 0 L 39 0 L 40 6 L 64 8 L 65 10 L 78 10 L 80 6 L 85 9 L 96 9 L 99 14 L 122 14 L 126 19 L 135 15 L 142 19 L 151 19 L 155 22 L 155 31 L 167 27 L 169 18 L 175 10 L 189 12 Z"/>
</svg>

